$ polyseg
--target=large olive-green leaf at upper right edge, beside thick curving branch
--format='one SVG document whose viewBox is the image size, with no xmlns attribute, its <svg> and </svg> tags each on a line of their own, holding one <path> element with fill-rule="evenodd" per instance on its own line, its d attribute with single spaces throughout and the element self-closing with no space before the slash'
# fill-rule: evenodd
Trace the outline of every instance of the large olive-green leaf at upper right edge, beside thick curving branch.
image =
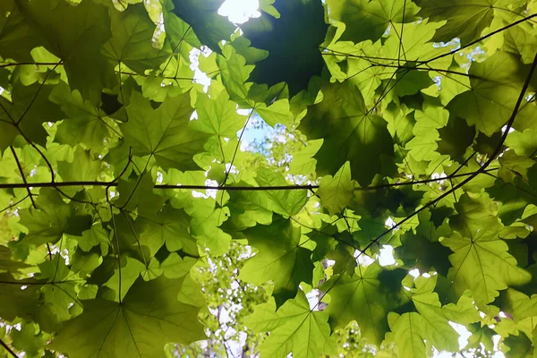
<svg viewBox="0 0 537 358">
<path fill-rule="evenodd" d="M 482 63 L 473 63 L 469 75 L 472 86 L 447 105 L 452 115 L 490 136 L 507 123 L 520 96 L 528 66 L 515 55 L 499 51 Z M 523 131 L 537 114 L 533 103 L 523 102 L 516 115 L 515 128 Z"/>
</svg>

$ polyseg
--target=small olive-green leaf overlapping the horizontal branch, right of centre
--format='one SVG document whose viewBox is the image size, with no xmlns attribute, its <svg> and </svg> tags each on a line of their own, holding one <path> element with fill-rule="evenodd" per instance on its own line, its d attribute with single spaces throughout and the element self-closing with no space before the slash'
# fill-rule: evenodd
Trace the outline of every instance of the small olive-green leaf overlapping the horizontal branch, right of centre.
<svg viewBox="0 0 537 358">
<path fill-rule="evenodd" d="M 336 214 L 349 205 L 354 194 L 349 162 L 345 162 L 333 177 L 332 175 L 323 176 L 316 194 L 320 196 L 323 206 L 328 209 L 330 215 Z"/>
</svg>

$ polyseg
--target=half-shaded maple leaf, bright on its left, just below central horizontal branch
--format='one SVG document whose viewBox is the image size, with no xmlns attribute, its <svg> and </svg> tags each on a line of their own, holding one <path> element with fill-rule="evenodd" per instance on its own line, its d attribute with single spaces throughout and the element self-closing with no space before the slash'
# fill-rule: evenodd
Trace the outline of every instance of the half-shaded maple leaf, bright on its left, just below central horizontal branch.
<svg viewBox="0 0 537 358">
<path fill-rule="evenodd" d="M 240 279 L 254 285 L 272 280 L 278 305 L 294 297 L 301 282 L 311 282 L 311 251 L 303 247 L 308 239 L 300 227 L 275 218 L 269 226 L 255 226 L 243 233 L 259 252 L 241 269 Z"/>
</svg>

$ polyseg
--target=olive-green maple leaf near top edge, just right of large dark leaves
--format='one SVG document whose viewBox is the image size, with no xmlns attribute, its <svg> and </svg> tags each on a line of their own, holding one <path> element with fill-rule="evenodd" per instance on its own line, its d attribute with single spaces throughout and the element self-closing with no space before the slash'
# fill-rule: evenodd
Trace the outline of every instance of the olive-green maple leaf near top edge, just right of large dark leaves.
<svg viewBox="0 0 537 358">
<path fill-rule="evenodd" d="M 112 38 L 101 52 L 115 64 L 124 63 L 135 72 L 158 68 L 170 55 L 171 49 L 153 47 L 155 24 L 149 18 L 143 4 L 129 6 L 123 13 L 111 10 Z"/>
</svg>

